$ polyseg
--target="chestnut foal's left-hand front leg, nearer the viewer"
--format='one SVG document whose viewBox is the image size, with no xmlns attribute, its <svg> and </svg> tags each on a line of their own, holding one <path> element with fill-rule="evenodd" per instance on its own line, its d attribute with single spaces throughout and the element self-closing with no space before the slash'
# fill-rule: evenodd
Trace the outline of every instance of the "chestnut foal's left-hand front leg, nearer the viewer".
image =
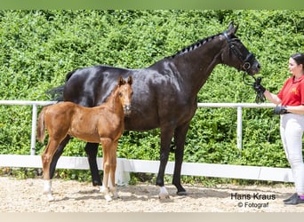
<svg viewBox="0 0 304 222">
<path fill-rule="evenodd" d="M 112 198 L 108 194 L 108 178 L 110 172 L 110 151 L 111 151 L 111 139 L 100 139 L 103 153 L 103 181 L 100 192 L 102 192 L 107 201 L 111 201 Z"/>
</svg>

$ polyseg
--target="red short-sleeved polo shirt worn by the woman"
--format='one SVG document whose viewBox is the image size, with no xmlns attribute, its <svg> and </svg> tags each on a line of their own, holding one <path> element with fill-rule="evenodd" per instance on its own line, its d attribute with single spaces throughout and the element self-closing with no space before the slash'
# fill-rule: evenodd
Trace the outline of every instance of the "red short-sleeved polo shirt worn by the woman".
<svg viewBox="0 0 304 222">
<path fill-rule="evenodd" d="M 288 78 L 277 97 L 282 100 L 282 106 L 304 105 L 304 75 L 297 80 L 293 76 Z"/>
</svg>

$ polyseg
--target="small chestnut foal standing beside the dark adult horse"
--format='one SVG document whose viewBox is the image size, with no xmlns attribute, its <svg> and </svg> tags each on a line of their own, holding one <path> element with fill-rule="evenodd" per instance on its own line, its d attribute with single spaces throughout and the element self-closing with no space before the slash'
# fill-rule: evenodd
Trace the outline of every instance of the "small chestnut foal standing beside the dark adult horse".
<svg viewBox="0 0 304 222">
<path fill-rule="evenodd" d="M 107 201 L 117 197 L 115 186 L 116 149 L 124 132 L 124 115 L 131 113 L 132 76 L 125 82 L 120 76 L 116 88 L 107 101 L 98 107 L 81 107 L 72 102 L 62 102 L 44 107 L 38 117 L 37 139 L 44 141 L 45 128 L 49 142 L 42 154 L 44 194 L 53 200 L 50 177 L 52 156 L 67 136 L 86 142 L 101 143 L 103 152 L 102 192 Z M 110 194 L 108 193 L 108 188 Z"/>
</svg>

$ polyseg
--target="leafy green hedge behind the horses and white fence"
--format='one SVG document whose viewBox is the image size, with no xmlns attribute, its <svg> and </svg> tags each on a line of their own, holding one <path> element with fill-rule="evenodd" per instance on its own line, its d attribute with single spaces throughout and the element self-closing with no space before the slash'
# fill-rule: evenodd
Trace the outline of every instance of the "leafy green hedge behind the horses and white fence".
<svg viewBox="0 0 304 222">
<path fill-rule="evenodd" d="M 51 99 L 44 91 L 63 84 L 68 71 L 77 67 L 148 67 L 226 30 L 231 20 L 260 61 L 263 85 L 277 92 L 289 76 L 289 56 L 304 52 L 303 11 L 0 11 L 0 99 Z M 198 94 L 199 102 L 254 98 L 243 73 L 222 65 Z M 271 109 L 244 108 L 244 148 L 239 150 L 236 109 L 198 108 L 184 160 L 287 167 L 278 120 Z M 28 155 L 30 124 L 31 107 L 0 106 L 0 154 Z M 159 143 L 159 130 L 125 131 L 117 155 L 158 160 Z M 37 144 L 37 154 L 44 144 Z M 64 155 L 84 155 L 84 142 L 74 139 Z"/>
</svg>

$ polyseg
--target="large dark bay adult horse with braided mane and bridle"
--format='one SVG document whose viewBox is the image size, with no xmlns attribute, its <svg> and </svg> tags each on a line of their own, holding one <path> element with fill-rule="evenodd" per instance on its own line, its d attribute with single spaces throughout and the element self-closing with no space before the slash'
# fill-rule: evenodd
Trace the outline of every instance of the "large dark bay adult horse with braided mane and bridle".
<svg viewBox="0 0 304 222">
<path fill-rule="evenodd" d="M 76 69 L 68 73 L 65 85 L 53 91 L 63 91 L 63 100 L 94 107 L 107 99 L 115 87 L 118 74 L 132 75 L 132 114 L 124 118 L 125 130 L 148 131 L 160 128 L 160 166 L 156 185 L 160 186 L 161 198 L 168 196 L 164 187 L 164 170 L 174 138 L 172 184 L 176 186 L 177 194 L 187 194 L 180 184 L 180 170 L 189 123 L 196 113 L 196 94 L 218 64 L 236 67 L 249 75 L 260 71 L 259 62 L 236 36 L 237 28 L 231 22 L 223 33 L 206 37 L 149 67 L 126 69 L 94 66 Z M 52 160 L 51 175 L 68 140 L 68 137 L 64 139 L 57 149 Z M 101 185 L 96 164 L 97 146 L 94 143 L 85 146 L 94 186 Z"/>
</svg>

